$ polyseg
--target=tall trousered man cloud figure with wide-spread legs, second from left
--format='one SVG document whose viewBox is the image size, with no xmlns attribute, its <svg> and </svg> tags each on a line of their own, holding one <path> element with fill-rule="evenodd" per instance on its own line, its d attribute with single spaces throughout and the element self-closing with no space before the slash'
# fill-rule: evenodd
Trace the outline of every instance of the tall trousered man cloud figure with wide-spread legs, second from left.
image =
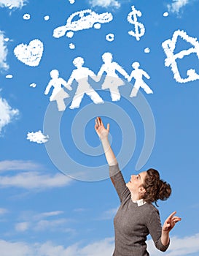
<svg viewBox="0 0 199 256">
<path fill-rule="evenodd" d="M 84 59 L 82 57 L 77 57 L 74 59 L 73 64 L 77 69 L 74 69 L 71 72 L 71 76 L 68 81 L 68 85 L 71 86 L 71 83 L 73 80 L 76 80 L 78 83 L 77 91 L 74 94 L 74 98 L 71 102 L 71 105 L 69 108 L 79 108 L 80 103 L 82 102 L 82 98 L 85 94 L 90 97 L 90 99 L 93 100 L 95 104 L 102 104 L 104 103 L 104 100 L 101 99 L 99 94 L 90 86 L 90 83 L 88 83 L 88 77 L 90 76 L 95 80 L 96 75 L 93 71 L 88 69 L 87 67 L 82 67 L 85 63 Z"/>
</svg>

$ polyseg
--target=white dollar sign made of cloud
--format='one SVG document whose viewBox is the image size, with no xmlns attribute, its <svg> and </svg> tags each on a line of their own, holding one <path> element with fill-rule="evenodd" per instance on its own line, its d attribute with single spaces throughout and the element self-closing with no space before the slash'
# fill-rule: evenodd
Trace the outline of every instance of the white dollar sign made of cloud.
<svg viewBox="0 0 199 256">
<path fill-rule="evenodd" d="M 132 6 L 131 9 L 132 12 L 129 12 L 127 20 L 129 23 L 135 25 L 135 32 L 130 30 L 128 31 L 128 34 L 130 34 L 130 36 L 136 37 L 136 40 L 139 41 L 140 37 L 142 37 L 145 32 L 144 25 L 137 20 L 137 16 L 141 17 L 141 11 L 136 10 L 134 6 Z"/>
</svg>

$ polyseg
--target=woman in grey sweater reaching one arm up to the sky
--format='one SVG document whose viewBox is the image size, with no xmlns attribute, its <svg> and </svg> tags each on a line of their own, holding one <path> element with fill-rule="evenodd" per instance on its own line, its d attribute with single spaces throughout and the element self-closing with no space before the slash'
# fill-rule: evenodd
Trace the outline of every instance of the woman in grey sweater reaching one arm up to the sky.
<svg viewBox="0 0 199 256">
<path fill-rule="evenodd" d="M 104 147 L 109 174 L 120 197 L 120 208 L 114 217 L 115 248 L 114 256 L 149 256 L 147 236 L 150 234 L 157 249 L 165 252 L 170 239 L 169 232 L 181 218 L 174 211 L 161 227 L 159 211 L 153 202 L 166 200 L 171 195 L 171 187 L 160 179 L 157 170 L 149 169 L 138 175 L 130 176 L 125 184 L 109 144 L 109 124 L 104 127 L 101 118 L 95 119 L 95 131 Z"/>
</svg>

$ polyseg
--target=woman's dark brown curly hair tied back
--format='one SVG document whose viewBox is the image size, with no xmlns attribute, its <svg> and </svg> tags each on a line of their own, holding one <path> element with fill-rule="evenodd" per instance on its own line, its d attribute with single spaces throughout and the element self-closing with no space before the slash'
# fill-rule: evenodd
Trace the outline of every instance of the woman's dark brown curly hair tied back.
<svg viewBox="0 0 199 256">
<path fill-rule="evenodd" d="M 143 184 L 146 192 L 143 199 L 147 203 L 155 202 L 157 206 L 157 200 L 167 200 L 171 195 L 171 186 L 167 182 L 160 179 L 160 174 L 155 169 L 147 170 L 147 176 Z"/>
</svg>

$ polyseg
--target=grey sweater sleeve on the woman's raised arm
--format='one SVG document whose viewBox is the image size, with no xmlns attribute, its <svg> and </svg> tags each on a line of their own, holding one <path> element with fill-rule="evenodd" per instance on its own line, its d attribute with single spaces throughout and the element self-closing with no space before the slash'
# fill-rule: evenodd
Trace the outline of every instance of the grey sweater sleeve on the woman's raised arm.
<svg viewBox="0 0 199 256">
<path fill-rule="evenodd" d="M 120 171 L 119 165 L 109 166 L 109 176 L 114 184 L 114 188 L 116 189 L 117 195 L 120 198 L 120 202 L 122 203 L 125 198 L 130 195 L 130 191 L 128 187 L 125 185 L 125 180 Z"/>
</svg>

